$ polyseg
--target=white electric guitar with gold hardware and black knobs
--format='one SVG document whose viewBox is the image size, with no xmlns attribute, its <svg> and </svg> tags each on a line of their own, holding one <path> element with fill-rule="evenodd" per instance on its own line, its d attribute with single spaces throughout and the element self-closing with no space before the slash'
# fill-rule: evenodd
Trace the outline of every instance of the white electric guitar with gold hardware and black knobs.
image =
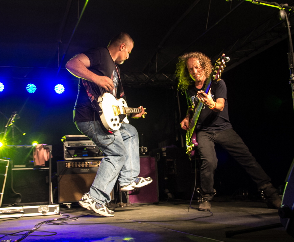
<svg viewBox="0 0 294 242">
<path fill-rule="evenodd" d="M 99 112 L 100 119 L 108 130 L 118 130 L 122 122 L 129 123 L 127 114 L 141 113 L 141 108 L 128 108 L 123 98 L 116 99 L 108 92 L 99 96 L 97 102 L 102 109 L 102 112 Z"/>
</svg>

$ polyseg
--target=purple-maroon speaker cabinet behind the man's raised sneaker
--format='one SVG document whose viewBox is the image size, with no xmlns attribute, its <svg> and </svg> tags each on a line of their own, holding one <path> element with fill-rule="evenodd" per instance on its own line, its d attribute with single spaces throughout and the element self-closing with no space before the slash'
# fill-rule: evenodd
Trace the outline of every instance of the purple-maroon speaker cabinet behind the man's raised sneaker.
<svg viewBox="0 0 294 242">
<path fill-rule="evenodd" d="M 157 203 L 158 202 L 158 179 L 157 162 L 155 157 L 140 156 L 140 174 L 141 177 L 150 176 L 153 182 L 143 186 L 135 191 L 128 192 L 128 202 L 138 203 Z"/>
</svg>

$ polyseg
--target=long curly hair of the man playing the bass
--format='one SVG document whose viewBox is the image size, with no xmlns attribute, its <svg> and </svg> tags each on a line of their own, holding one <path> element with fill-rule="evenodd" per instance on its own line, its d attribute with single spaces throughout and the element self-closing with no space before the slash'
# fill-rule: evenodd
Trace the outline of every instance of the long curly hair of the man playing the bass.
<svg viewBox="0 0 294 242">
<path fill-rule="evenodd" d="M 185 91 L 188 86 L 194 83 L 194 80 L 190 77 L 189 71 L 187 69 L 187 60 L 190 58 L 196 58 L 199 60 L 206 79 L 211 74 L 212 64 L 211 60 L 201 52 L 189 52 L 178 58 L 178 63 L 176 64 L 176 77 L 178 79 L 178 90 Z"/>
</svg>

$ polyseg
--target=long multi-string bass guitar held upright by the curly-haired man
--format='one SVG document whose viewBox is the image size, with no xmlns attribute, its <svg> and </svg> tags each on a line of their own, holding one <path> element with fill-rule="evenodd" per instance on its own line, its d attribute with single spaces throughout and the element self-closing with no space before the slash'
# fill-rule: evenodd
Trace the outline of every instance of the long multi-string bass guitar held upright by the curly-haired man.
<svg viewBox="0 0 294 242">
<path fill-rule="evenodd" d="M 208 80 L 204 86 L 203 91 L 208 94 L 208 91 L 210 89 L 211 83 L 213 81 L 219 81 L 220 76 L 223 72 L 223 69 L 225 68 L 225 63 L 230 61 L 229 57 L 226 57 L 225 54 L 223 54 L 214 64 L 211 74 L 208 77 Z M 186 133 L 186 146 L 187 146 L 187 154 L 189 157 L 193 157 L 195 154 L 195 146 L 198 146 L 198 143 L 196 141 L 196 132 L 194 132 L 194 129 L 196 127 L 198 118 L 200 116 L 201 110 L 203 108 L 204 104 L 198 101 L 196 107 L 194 108 L 194 114 L 192 119 L 190 120 L 190 128 L 187 130 Z"/>
</svg>

